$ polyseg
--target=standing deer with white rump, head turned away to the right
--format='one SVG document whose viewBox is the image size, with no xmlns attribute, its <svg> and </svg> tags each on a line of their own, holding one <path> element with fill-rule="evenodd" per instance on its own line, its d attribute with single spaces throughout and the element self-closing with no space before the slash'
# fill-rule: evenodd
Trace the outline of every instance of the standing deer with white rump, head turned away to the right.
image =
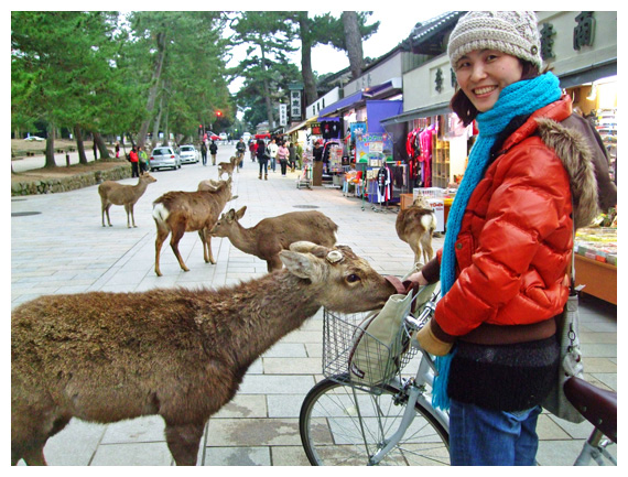
<svg viewBox="0 0 628 477">
<path fill-rule="evenodd" d="M 162 277 L 160 254 L 164 240 L 170 234 L 170 246 L 183 271 L 190 271 L 178 252 L 178 242 L 186 231 L 198 231 L 203 243 L 203 258 L 206 263 L 216 263 L 212 253 L 209 230 L 218 220 L 231 195 L 231 180 L 202 181 L 196 192 L 167 192 L 153 202 L 153 218 L 156 225 L 155 273 Z"/>
</svg>

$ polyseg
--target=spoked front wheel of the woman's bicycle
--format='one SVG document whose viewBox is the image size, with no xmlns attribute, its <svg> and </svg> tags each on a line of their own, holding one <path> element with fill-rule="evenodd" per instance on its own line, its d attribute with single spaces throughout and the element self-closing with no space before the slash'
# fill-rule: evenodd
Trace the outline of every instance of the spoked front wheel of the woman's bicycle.
<svg viewBox="0 0 628 477">
<path fill-rule="evenodd" d="M 324 379 L 310 390 L 299 419 L 303 448 L 312 465 L 369 465 L 401 422 L 405 403 L 398 390 L 379 395 Z M 416 403 L 410 427 L 379 465 L 448 465 L 448 433 Z"/>
</svg>

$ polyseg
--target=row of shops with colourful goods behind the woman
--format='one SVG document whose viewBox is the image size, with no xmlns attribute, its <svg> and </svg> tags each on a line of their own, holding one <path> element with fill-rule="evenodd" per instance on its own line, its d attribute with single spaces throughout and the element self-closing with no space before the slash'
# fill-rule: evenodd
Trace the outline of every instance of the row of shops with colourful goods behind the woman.
<svg viewBox="0 0 628 477">
<path fill-rule="evenodd" d="M 343 147 L 342 154 L 355 163 L 348 166 L 345 160 L 343 172 L 338 173 L 346 177 L 345 194 L 366 196 L 378 203 L 387 198 L 403 207 L 412 202 L 416 189 L 434 192 L 443 196 L 443 224 L 446 221 L 447 206 L 464 176 L 468 152 L 477 134 L 474 124 L 464 128 L 448 107 L 456 79 L 446 45 L 464 13 L 445 12 L 418 24 L 398 47 L 369 65 L 359 78 L 339 88 L 337 100 L 329 102 L 333 98 L 328 96 L 325 106 L 318 105 L 316 116 L 308 117 L 302 124 L 310 144 L 317 140 L 337 141 Z M 537 14 L 544 63 L 572 96 L 574 109 L 588 118 L 600 133 L 611 177 L 617 183 L 617 12 L 543 11 Z M 329 123 L 338 124 L 333 129 L 340 131 L 340 135 L 324 138 L 325 126 Z M 371 138 L 375 140 L 368 141 Z M 403 172 L 389 173 L 389 183 L 399 186 L 392 186 L 390 193 L 378 194 L 379 173 L 386 166 Z M 605 212 L 608 213 L 605 220 L 613 223 L 616 210 Z M 616 300 L 616 267 L 613 264 L 616 234 L 614 239 L 613 230 L 605 230 L 604 247 L 596 251 L 588 232 L 588 240 L 578 241 L 584 243 L 580 248 L 583 257 L 588 253 L 588 260 L 609 265 L 609 271 L 605 278 L 595 279 L 587 278 L 585 271 L 581 279 L 589 283 L 598 281 L 602 288 L 611 290 Z M 584 265 L 581 263 L 578 268 Z M 600 295 L 588 288 L 592 294 Z M 613 301 L 613 297 L 606 293 L 604 300 Z"/>
</svg>

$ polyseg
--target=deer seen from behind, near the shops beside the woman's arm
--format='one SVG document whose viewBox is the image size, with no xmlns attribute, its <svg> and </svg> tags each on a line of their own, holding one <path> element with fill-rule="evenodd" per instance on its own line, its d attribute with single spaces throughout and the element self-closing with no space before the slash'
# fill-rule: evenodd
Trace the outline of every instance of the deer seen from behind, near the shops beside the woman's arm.
<svg viewBox="0 0 628 477">
<path fill-rule="evenodd" d="M 396 227 L 399 238 L 414 252 L 415 267 L 432 260 L 432 235 L 436 229 L 436 215 L 425 197 L 420 194 L 410 207 L 401 210 Z"/>
</svg>

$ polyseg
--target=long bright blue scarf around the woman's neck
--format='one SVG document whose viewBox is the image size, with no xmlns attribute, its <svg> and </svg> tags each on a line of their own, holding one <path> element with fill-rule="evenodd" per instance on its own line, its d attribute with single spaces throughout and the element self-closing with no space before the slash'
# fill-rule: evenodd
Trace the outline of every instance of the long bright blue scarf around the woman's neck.
<svg viewBox="0 0 628 477">
<path fill-rule="evenodd" d="M 447 218 L 447 232 L 445 234 L 445 245 L 441 260 L 441 294 L 443 296 L 450 291 L 456 279 L 454 246 L 461 231 L 463 215 L 470 195 L 484 177 L 490 156 L 490 149 L 495 144 L 497 135 L 515 117 L 531 115 L 535 110 L 559 100 L 561 95 L 559 78 L 552 73 L 546 73 L 533 79 L 524 79 L 508 85 L 501 90 L 495 106 L 477 116 L 479 135 L 469 154 L 465 175 Z M 438 375 L 434 379 L 432 404 L 445 411 L 450 409 L 447 378 L 454 354 L 455 348 L 448 355 L 437 357 L 435 360 Z"/>
</svg>

